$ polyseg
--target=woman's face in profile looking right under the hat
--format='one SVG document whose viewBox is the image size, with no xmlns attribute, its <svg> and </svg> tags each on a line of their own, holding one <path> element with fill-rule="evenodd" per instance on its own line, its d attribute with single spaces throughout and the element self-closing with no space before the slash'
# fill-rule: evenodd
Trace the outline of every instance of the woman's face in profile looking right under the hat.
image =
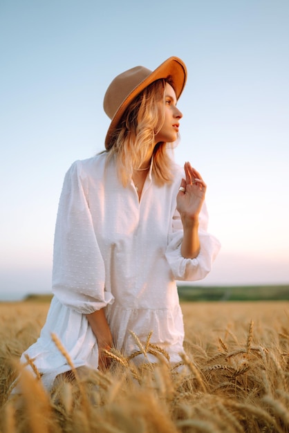
<svg viewBox="0 0 289 433">
<path fill-rule="evenodd" d="M 179 120 L 183 114 L 176 107 L 176 93 L 169 83 L 165 85 L 165 100 L 161 104 L 165 120 L 156 133 L 155 142 L 174 142 L 178 138 Z"/>
</svg>

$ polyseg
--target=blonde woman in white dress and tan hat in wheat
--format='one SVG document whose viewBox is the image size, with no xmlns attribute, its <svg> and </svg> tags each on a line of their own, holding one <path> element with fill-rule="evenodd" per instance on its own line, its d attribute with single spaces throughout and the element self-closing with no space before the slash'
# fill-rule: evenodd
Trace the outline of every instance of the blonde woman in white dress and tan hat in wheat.
<svg viewBox="0 0 289 433">
<path fill-rule="evenodd" d="M 68 170 L 55 229 L 53 293 L 41 335 L 23 354 L 50 389 L 69 371 L 56 333 L 75 367 L 106 367 L 103 349 L 129 356 L 152 331 L 151 342 L 183 352 L 177 280 L 202 279 L 218 241 L 207 233 L 206 185 L 169 156 L 182 113 L 177 100 L 185 64 L 170 57 L 155 71 L 138 66 L 111 82 L 104 111 L 111 118 L 106 150 Z M 134 358 L 143 362 L 142 356 Z M 156 361 L 151 355 L 149 359 Z"/>
</svg>

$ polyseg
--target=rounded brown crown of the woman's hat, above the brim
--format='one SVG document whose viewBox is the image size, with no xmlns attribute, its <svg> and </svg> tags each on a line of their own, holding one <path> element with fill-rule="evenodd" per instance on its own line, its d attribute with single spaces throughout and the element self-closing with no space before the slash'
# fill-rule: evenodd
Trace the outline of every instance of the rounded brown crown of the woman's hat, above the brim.
<svg viewBox="0 0 289 433">
<path fill-rule="evenodd" d="M 151 71 L 144 66 L 136 66 L 113 79 L 104 95 L 104 111 L 110 119 L 113 119 L 129 94 L 150 74 Z"/>
</svg>

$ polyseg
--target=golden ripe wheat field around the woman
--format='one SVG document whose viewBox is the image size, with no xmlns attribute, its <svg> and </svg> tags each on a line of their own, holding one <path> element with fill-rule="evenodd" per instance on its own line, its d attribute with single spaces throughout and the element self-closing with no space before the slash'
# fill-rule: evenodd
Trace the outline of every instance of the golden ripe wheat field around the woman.
<svg viewBox="0 0 289 433">
<path fill-rule="evenodd" d="M 0 432 L 289 432 L 289 302 L 181 305 L 186 356 L 178 368 L 150 335 L 135 335 L 158 364 L 137 368 L 133 356 L 112 351 L 105 374 L 74 371 L 47 394 L 36 369 L 35 377 L 23 371 L 22 394 L 9 397 L 48 304 L 0 304 Z"/>
</svg>

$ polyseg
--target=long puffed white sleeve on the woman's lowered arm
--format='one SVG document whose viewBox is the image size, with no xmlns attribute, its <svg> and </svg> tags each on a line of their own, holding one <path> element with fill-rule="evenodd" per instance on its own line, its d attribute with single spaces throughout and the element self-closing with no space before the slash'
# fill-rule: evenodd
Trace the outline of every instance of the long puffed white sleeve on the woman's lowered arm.
<svg viewBox="0 0 289 433">
<path fill-rule="evenodd" d="M 82 165 L 76 161 L 64 178 L 55 227 L 53 293 L 62 304 L 89 314 L 114 298 L 104 288 L 104 261 L 81 174 Z"/>
</svg>

